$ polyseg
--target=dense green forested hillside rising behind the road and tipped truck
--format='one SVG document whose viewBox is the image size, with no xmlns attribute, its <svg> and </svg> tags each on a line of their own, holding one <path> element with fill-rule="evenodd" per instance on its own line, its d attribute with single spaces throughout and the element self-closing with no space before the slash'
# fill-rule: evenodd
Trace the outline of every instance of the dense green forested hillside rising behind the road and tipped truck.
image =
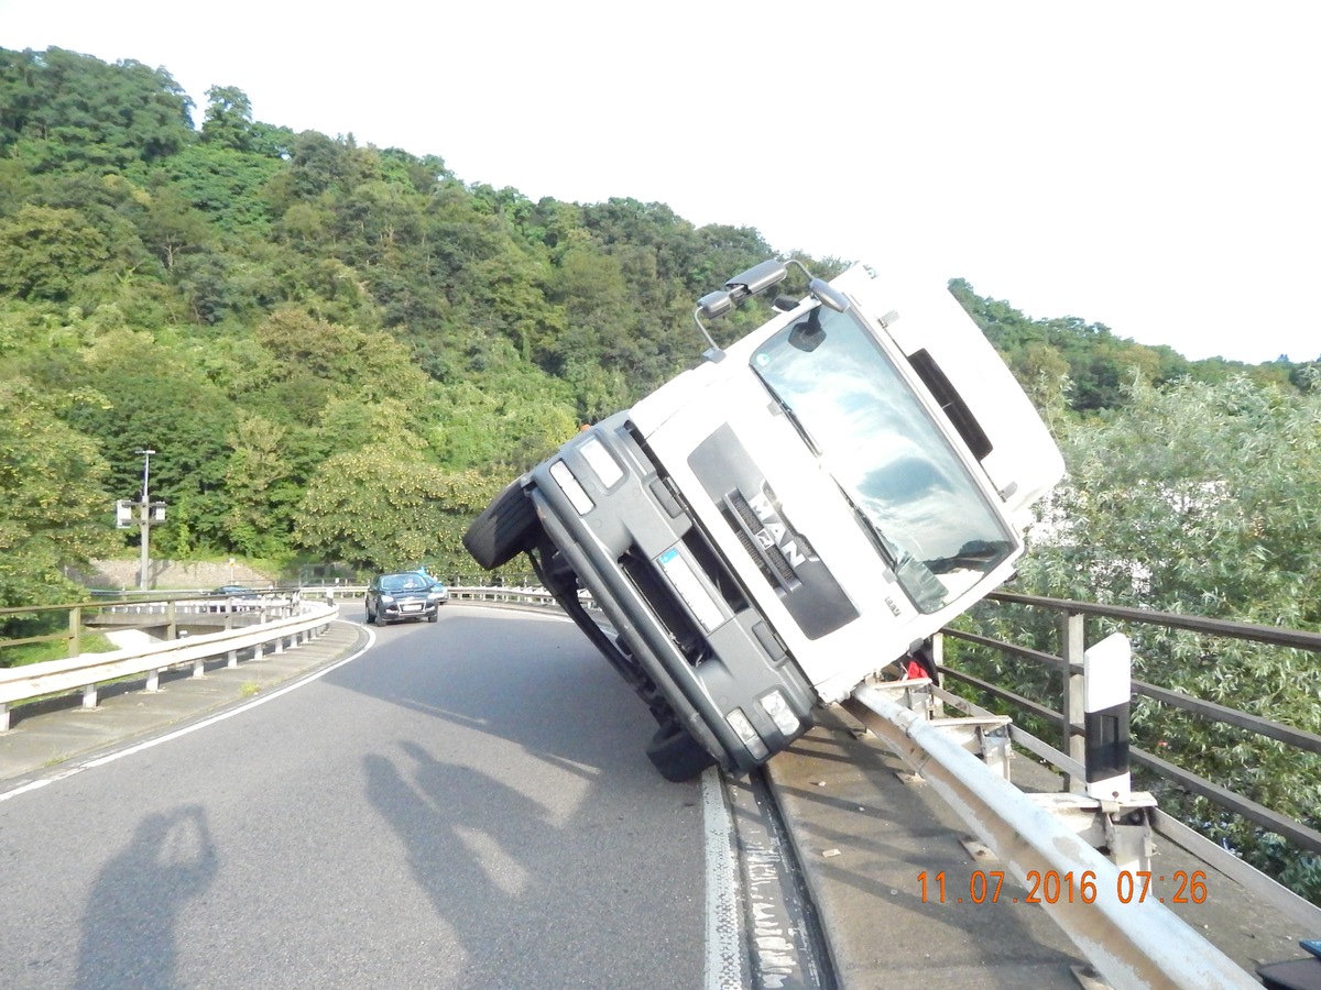
<svg viewBox="0 0 1321 990">
<path fill-rule="evenodd" d="M 144 447 L 161 556 L 450 569 L 494 486 L 692 363 L 694 301 L 775 253 L 663 203 L 534 203 L 206 96 L 194 121 L 165 70 L 0 50 L 0 603 L 66 595 L 63 566 L 127 545 L 110 512 Z M 1042 403 L 1227 372 L 952 289 Z"/>
</svg>

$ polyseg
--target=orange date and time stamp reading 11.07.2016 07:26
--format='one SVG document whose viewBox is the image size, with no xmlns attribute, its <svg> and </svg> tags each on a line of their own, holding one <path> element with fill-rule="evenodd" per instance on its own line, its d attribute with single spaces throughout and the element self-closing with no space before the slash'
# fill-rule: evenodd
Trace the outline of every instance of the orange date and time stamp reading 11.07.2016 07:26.
<svg viewBox="0 0 1321 990">
<path fill-rule="evenodd" d="M 930 880 L 930 883 L 929 883 Z M 922 888 L 922 903 L 939 904 L 1091 904 L 1096 900 L 1096 871 L 1059 873 L 1057 870 L 1028 870 L 1026 894 L 1009 895 L 1004 891 L 1004 870 L 974 870 L 968 876 L 967 898 L 962 892 L 946 892 L 945 870 L 917 875 Z M 1012 883 L 1012 880 L 1011 880 Z M 1017 890 L 1011 887 L 1011 890 Z M 1156 900 L 1161 904 L 1205 904 L 1207 896 L 1205 870 L 1174 870 L 1169 876 L 1151 870 L 1120 870 L 1115 875 L 1115 899 L 1120 904 L 1141 904 Z"/>
</svg>

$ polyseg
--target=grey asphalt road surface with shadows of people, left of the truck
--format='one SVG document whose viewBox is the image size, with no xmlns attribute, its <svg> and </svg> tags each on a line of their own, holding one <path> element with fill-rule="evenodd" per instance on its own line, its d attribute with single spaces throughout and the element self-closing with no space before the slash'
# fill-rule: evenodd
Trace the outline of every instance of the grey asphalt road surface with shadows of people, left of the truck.
<svg viewBox="0 0 1321 990">
<path fill-rule="evenodd" d="M 375 635 L 0 803 L 0 986 L 701 986 L 701 785 L 583 635 Z"/>
</svg>

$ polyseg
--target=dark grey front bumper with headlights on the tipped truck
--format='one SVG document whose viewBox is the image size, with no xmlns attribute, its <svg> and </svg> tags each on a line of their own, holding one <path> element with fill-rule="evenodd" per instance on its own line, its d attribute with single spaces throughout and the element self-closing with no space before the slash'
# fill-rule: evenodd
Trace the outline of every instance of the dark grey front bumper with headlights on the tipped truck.
<svg viewBox="0 0 1321 990">
<path fill-rule="evenodd" d="M 593 438 L 597 447 L 584 453 Z M 602 449 L 618 467 L 617 475 L 606 467 L 608 479 L 597 470 Z M 572 496 L 565 467 L 581 486 Z M 725 770 L 746 772 L 811 727 L 811 684 L 664 487 L 624 414 L 567 445 L 528 479 L 550 544 L 679 723 Z"/>
</svg>

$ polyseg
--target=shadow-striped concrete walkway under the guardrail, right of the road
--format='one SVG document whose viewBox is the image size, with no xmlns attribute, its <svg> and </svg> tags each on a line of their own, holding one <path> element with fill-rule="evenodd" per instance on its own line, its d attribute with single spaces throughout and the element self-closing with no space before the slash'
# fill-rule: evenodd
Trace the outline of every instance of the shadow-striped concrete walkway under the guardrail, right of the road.
<svg viewBox="0 0 1321 990">
<path fill-rule="evenodd" d="M 989 895 L 975 903 L 974 873 L 993 884 L 991 871 L 1004 867 L 974 861 L 960 843 L 967 829 L 941 797 L 922 783 L 905 783 L 897 775 L 901 760 L 873 737 L 859 738 L 860 726 L 847 713 L 832 715 L 769 768 L 831 933 L 841 985 L 1077 990 L 1071 966 L 1086 969 L 1086 962 L 1049 915 L 1025 903 L 1028 892 L 1009 878 L 995 903 Z M 1058 789 L 1054 775 L 1030 759 L 1018 756 L 1012 766 L 1018 787 Z M 1206 899 L 1172 909 L 1250 977 L 1263 962 L 1304 958 L 1299 939 L 1317 937 L 1157 836 L 1152 871 L 1166 876 L 1160 894 L 1173 894 L 1170 878 L 1180 870 L 1207 871 Z M 935 880 L 942 871 L 945 903 Z"/>
</svg>

